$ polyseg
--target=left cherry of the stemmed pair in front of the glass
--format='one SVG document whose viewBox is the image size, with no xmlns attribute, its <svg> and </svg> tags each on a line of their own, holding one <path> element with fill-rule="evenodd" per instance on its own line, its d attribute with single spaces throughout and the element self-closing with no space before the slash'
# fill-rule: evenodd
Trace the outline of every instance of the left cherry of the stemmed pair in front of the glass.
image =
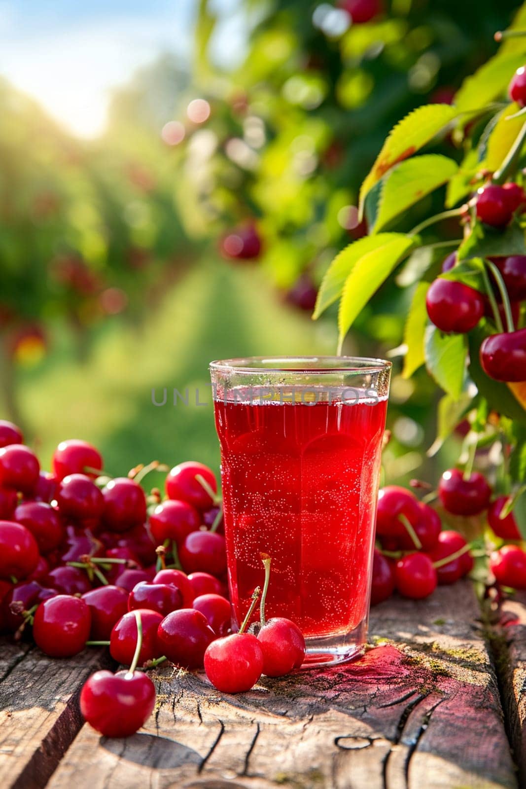
<svg viewBox="0 0 526 789">
<path fill-rule="evenodd" d="M 233 633 L 218 638 L 204 653 L 204 670 L 222 693 L 250 690 L 263 671 L 263 649 L 256 636 Z"/>
</svg>

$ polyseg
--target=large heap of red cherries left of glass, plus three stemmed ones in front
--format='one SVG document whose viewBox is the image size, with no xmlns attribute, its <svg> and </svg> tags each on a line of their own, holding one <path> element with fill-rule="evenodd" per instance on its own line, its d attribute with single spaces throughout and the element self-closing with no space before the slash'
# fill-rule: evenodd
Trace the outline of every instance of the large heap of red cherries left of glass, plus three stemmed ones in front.
<svg viewBox="0 0 526 789">
<path fill-rule="evenodd" d="M 129 671 L 98 671 L 80 701 L 106 736 L 127 736 L 155 704 L 139 669 L 169 660 L 205 668 L 219 689 L 251 688 L 264 673 L 300 667 L 305 641 L 288 619 L 250 625 L 259 589 L 239 632 L 226 590 L 226 547 L 217 481 L 184 462 L 166 476 L 166 499 L 140 482 L 159 463 L 110 479 L 91 444 L 60 443 L 43 472 L 16 425 L 0 421 L 0 631 L 28 638 L 52 657 L 108 645 Z M 252 625 L 254 630 L 255 625 Z"/>
</svg>

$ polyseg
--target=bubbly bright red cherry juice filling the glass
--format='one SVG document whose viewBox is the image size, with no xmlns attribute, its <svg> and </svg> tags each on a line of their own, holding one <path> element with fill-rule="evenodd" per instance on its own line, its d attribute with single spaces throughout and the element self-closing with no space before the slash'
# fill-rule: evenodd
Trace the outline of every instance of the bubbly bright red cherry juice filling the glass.
<svg viewBox="0 0 526 789">
<path fill-rule="evenodd" d="M 238 622 L 263 585 L 262 552 L 272 558 L 267 618 L 288 617 L 305 636 L 346 634 L 364 620 L 386 408 L 364 391 L 278 402 L 233 389 L 215 399 Z"/>
</svg>

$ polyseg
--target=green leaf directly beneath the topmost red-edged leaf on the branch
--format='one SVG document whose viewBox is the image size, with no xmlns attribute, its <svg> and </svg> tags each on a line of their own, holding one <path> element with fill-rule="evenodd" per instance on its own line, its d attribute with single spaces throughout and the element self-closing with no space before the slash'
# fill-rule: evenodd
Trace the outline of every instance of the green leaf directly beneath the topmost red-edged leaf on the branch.
<svg viewBox="0 0 526 789">
<path fill-rule="evenodd" d="M 375 232 L 453 178 L 458 165 L 447 156 L 416 156 L 397 165 L 383 184 Z"/>
</svg>

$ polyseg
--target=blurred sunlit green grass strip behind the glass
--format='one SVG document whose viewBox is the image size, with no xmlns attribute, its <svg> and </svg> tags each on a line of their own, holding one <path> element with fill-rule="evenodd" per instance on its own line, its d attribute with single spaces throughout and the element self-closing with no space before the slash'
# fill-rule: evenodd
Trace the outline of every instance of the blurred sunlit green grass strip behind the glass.
<svg viewBox="0 0 526 789">
<path fill-rule="evenodd" d="M 335 347 L 335 328 L 280 303 L 256 267 L 211 258 L 188 270 L 140 332 L 114 323 L 84 363 L 68 346 L 24 372 L 18 400 L 44 467 L 56 444 L 74 437 L 100 447 L 113 474 L 153 459 L 196 459 L 218 469 L 210 394 L 201 398 L 208 406 L 192 403 L 196 387 L 210 391 L 208 362 Z M 152 404 L 154 387 L 158 398 L 167 387 L 166 406 Z M 189 406 L 171 405 L 173 387 L 189 387 Z"/>
</svg>

